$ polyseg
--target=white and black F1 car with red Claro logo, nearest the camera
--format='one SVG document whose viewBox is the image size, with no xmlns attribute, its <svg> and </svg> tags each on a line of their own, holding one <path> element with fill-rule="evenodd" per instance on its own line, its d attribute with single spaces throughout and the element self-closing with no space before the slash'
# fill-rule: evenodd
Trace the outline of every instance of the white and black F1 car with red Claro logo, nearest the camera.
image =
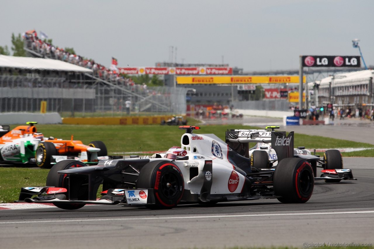
<svg viewBox="0 0 374 249">
<path fill-rule="evenodd" d="M 313 169 L 307 160 L 284 155 L 275 170 L 259 171 L 214 134 L 193 134 L 196 126 L 179 128 L 186 130 L 181 147 L 172 147 L 164 156 L 101 160 L 96 166 L 58 162 L 47 176 L 47 187 L 22 188 L 19 201 L 53 203 L 70 210 L 86 204 L 153 209 L 261 198 L 305 203 L 312 196 Z M 97 200 L 100 185 L 102 197 Z"/>
</svg>

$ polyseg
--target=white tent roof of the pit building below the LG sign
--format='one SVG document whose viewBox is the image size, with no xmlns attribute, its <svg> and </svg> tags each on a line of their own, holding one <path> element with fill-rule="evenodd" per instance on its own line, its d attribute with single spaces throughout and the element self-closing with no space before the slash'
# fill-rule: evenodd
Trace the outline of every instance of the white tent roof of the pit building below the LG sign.
<svg viewBox="0 0 374 249">
<path fill-rule="evenodd" d="M 374 70 L 361 70 L 351 73 L 335 74 L 334 75 L 334 86 L 353 86 L 359 84 L 367 84 L 370 77 L 373 77 Z M 326 87 L 331 82 L 332 76 L 322 79 L 320 82 L 320 87 Z"/>
</svg>

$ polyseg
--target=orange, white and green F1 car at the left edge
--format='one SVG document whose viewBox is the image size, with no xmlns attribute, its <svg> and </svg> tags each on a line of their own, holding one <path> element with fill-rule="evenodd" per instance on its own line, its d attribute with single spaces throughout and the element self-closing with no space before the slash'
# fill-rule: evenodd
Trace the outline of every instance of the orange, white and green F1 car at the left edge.
<svg viewBox="0 0 374 249">
<path fill-rule="evenodd" d="M 37 132 L 34 124 L 17 126 L 10 130 L 7 125 L 0 125 L 0 162 L 1 163 L 36 163 L 49 169 L 55 163 L 75 159 L 86 164 L 97 164 L 98 160 L 109 159 L 107 147 L 101 141 L 92 141 L 88 145 L 79 140 L 45 138 Z"/>
</svg>

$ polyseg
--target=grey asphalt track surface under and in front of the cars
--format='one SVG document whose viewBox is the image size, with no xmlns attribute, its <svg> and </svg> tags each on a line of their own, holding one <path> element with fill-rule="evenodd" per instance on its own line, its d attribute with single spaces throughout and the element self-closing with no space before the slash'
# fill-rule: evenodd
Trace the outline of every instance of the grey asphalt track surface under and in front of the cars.
<svg viewBox="0 0 374 249">
<path fill-rule="evenodd" d="M 336 126 L 334 137 L 349 139 L 341 127 Z M 171 210 L 104 205 L 74 211 L 0 210 L 0 248 L 303 248 L 304 243 L 374 243 L 373 160 L 344 158 L 344 167 L 353 169 L 358 181 L 318 181 L 304 204 L 269 199 Z"/>
</svg>

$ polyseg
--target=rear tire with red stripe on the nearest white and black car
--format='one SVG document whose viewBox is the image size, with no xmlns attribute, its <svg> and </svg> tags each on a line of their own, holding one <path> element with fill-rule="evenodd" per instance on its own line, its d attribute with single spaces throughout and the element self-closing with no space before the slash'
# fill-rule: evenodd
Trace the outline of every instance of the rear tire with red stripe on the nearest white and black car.
<svg viewBox="0 0 374 249">
<path fill-rule="evenodd" d="M 285 158 L 276 166 L 274 192 L 282 203 L 305 203 L 313 193 L 312 166 L 301 158 Z"/>
</svg>

